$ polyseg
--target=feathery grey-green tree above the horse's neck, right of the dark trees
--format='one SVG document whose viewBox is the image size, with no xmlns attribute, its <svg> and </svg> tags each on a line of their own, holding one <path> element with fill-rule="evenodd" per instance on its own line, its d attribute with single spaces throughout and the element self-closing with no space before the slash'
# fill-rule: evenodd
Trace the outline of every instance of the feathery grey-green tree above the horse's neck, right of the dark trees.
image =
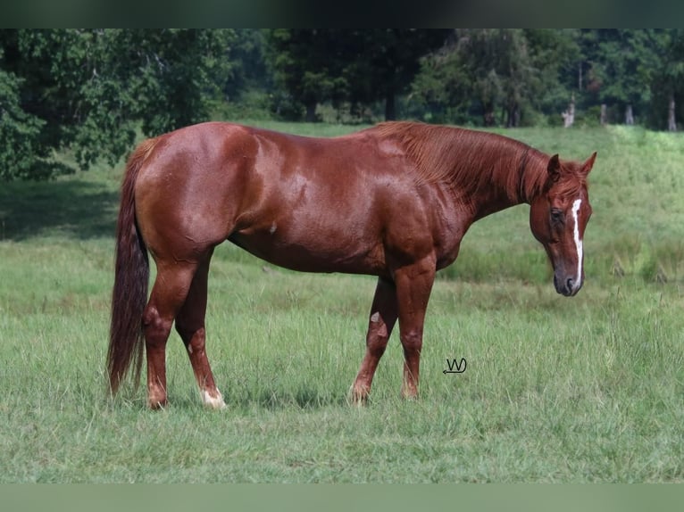
<svg viewBox="0 0 684 512">
<path fill-rule="evenodd" d="M 549 106 L 560 112 L 560 103 L 567 104 L 560 77 L 576 52 L 565 31 L 458 29 L 423 58 L 413 95 L 431 111 L 468 120 L 477 112 L 484 126 L 520 126 L 526 114 Z"/>
</svg>

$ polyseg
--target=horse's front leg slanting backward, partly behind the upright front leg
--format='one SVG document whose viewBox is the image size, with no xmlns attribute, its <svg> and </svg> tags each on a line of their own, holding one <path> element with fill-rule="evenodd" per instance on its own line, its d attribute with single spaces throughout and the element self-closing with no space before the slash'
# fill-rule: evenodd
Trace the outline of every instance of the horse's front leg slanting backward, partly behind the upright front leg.
<svg viewBox="0 0 684 512">
<path fill-rule="evenodd" d="M 387 348 L 389 335 L 392 334 L 392 328 L 396 323 L 396 316 L 396 287 L 391 281 L 380 277 L 368 320 L 366 354 L 352 386 L 352 400 L 357 404 L 363 404 L 368 400 L 373 376 Z"/>
</svg>

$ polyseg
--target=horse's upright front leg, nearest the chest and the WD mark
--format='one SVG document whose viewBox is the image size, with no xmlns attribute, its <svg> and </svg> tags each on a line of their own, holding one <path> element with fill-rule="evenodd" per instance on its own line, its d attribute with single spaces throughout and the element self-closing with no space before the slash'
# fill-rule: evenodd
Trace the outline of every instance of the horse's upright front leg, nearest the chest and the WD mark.
<svg viewBox="0 0 684 512">
<path fill-rule="evenodd" d="M 418 396 L 423 324 L 436 271 L 435 258 L 430 256 L 395 272 L 399 336 L 404 348 L 402 395 L 409 399 Z"/>
</svg>

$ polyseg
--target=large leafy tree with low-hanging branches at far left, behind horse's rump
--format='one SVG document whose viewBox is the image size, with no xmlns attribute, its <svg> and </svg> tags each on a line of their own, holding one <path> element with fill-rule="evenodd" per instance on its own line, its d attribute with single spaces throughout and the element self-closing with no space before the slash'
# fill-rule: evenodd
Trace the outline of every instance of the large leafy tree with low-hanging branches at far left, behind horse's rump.
<svg viewBox="0 0 684 512">
<path fill-rule="evenodd" d="M 88 169 L 101 158 L 118 161 L 140 124 L 152 136 L 208 119 L 232 36 L 230 30 L 4 29 L 0 70 L 23 112 L 14 119 L 33 120 L 38 130 L 35 154 L 71 148 Z M 37 166 L 6 172 L 47 174 Z"/>
</svg>

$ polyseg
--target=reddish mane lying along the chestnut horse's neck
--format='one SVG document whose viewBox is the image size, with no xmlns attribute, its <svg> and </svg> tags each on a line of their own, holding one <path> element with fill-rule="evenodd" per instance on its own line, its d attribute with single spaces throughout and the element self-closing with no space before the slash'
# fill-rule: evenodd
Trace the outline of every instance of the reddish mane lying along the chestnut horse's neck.
<svg viewBox="0 0 684 512">
<path fill-rule="evenodd" d="M 546 184 L 549 156 L 506 136 L 408 121 L 371 129 L 403 147 L 421 182 L 446 181 L 465 193 L 496 183 L 517 202 L 536 197 Z"/>
</svg>

